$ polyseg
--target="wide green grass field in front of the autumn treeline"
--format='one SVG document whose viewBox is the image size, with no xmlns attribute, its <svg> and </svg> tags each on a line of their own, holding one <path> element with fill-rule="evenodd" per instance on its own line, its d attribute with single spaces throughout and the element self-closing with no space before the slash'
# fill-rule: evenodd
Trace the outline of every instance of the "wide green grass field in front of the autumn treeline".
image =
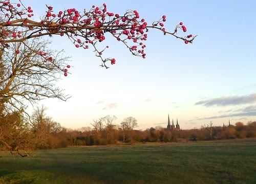
<svg viewBox="0 0 256 184">
<path fill-rule="evenodd" d="M 13 158 L 0 183 L 256 183 L 256 140 L 74 147 Z"/>
</svg>

